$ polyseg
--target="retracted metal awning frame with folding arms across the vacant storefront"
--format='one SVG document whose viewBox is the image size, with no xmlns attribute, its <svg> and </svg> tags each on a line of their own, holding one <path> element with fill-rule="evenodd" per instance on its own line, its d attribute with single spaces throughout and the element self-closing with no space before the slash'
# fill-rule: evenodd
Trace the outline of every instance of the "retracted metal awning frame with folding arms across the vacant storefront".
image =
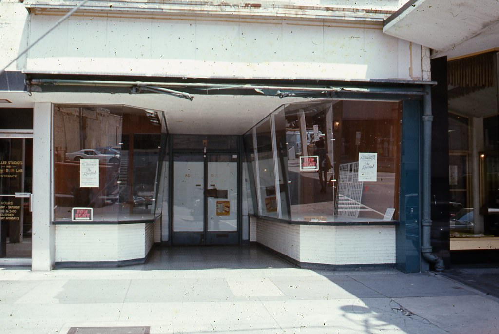
<svg viewBox="0 0 499 334">
<path fill-rule="evenodd" d="M 36 78 L 30 78 L 36 76 Z M 260 95 L 283 97 L 400 100 L 421 98 L 424 87 L 434 81 L 409 80 L 269 80 L 210 78 L 163 78 L 171 81 L 128 81 L 83 78 L 42 78 L 43 74 L 28 74 L 29 92 L 108 92 L 161 93 L 193 100 L 195 95 Z"/>
</svg>

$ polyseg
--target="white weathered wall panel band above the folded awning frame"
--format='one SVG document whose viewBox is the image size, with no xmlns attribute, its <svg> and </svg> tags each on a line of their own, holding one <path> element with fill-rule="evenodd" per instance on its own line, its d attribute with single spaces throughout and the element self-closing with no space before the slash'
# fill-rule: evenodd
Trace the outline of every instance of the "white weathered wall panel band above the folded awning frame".
<svg viewBox="0 0 499 334">
<path fill-rule="evenodd" d="M 58 18 L 33 15 L 30 41 Z M 411 54 L 418 48 L 419 59 Z M 384 35 L 376 22 L 74 16 L 29 51 L 26 69 L 187 77 L 421 79 L 420 57 L 420 46 Z M 407 59 L 412 59 L 411 66 Z"/>
</svg>

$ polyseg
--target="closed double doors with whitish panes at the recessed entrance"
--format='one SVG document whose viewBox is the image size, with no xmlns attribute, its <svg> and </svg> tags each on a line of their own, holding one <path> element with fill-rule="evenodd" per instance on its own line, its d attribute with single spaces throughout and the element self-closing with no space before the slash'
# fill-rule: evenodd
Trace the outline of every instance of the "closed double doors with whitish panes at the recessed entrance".
<svg viewBox="0 0 499 334">
<path fill-rule="evenodd" d="M 238 244 L 238 207 L 237 154 L 174 154 L 172 244 Z"/>
</svg>

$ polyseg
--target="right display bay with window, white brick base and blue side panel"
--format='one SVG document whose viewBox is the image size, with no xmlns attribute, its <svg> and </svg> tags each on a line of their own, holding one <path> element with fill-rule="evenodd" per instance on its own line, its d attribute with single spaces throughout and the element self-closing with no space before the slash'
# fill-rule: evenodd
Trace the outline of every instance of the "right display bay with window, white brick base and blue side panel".
<svg viewBox="0 0 499 334">
<path fill-rule="evenodd" d="M 283 104 L 245 134 L 260 244 L 301 266 L 419 266 L 421 102 L 374 96 Z"/>
</svg>

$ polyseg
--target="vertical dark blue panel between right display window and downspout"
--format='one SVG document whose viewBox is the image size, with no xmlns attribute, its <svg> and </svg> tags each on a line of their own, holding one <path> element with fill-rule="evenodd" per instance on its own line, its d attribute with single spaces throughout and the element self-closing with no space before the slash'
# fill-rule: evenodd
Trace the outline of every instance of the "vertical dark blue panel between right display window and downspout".
<svg viewBox="0 0 499 334">
<path fill-rule="evenodd" d="M 422 101 L 403 102 L 396 265 L 406 273 L 420 271 L 421 115 Z"/>
</svg>

